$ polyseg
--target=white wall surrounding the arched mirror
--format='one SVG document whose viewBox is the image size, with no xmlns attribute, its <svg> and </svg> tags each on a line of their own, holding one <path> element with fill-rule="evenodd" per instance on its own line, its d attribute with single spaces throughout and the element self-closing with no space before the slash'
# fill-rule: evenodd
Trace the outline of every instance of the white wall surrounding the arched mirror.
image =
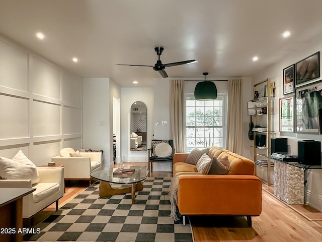
<svg viewBox="0 0 322 242">
<path fill-rule="evenodd" d="M 155 94 L 155 93 L 154 93 Z M 148 151 L 131 151 L 131 106 L 134 102 L 141 101 L 146 105 L 147 132 L 146 145 L 149 148 L 153 134 L 153 88 L 122 88 L 121 97 L 121 156 L 127 162 L 147 162 Z M 158 112 L 157 110 L 155 112 Z M 119 161 L 119 160 L 118 160 Z"/>
</svg>

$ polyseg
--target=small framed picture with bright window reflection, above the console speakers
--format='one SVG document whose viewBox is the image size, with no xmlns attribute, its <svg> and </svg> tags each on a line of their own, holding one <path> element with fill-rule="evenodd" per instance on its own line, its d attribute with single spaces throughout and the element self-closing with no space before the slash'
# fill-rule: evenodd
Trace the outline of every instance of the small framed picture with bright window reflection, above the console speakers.
<svg viewBox="0 0 322 242">
<path fill-rule="evenodd" d="M 294 96 L 280 98 L 279 131 L 294 132 Z"/>
</svg>

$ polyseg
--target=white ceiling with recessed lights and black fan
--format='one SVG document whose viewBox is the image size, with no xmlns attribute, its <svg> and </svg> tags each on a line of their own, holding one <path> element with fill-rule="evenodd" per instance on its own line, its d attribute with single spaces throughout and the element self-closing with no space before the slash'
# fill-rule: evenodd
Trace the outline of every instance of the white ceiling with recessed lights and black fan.
<svg viewBox="0 0 322 242">
<path fill-rule="evenodd" d="M 154 65 L 163 46 L 163 64 L 198 61 L 167 67 L 170 78 L 251 77 L 321 37 L 321 10 L 321 0 L 0 0 L 0 33 L 81 77 L 151 87 L 152 68 L 115 64 Z"/>
</svg>

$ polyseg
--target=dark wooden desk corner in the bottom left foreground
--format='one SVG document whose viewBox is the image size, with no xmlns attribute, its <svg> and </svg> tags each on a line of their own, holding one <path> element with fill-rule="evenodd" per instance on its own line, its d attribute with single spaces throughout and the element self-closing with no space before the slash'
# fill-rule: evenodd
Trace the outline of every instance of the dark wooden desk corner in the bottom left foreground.
<svg viewBox="0 0 322 242">
<path fill-rule="evenodd" d="M 35 188 L 0 188 L 0 241 L 22 241 L 22 199 Z"/>
</svg>

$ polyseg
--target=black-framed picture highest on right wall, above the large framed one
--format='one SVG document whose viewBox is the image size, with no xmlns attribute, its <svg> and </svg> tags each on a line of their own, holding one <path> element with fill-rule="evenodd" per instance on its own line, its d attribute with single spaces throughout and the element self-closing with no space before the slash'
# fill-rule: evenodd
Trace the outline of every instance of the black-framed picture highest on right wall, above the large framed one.
<svg viewBox="0 0 322 242">
<path fill-rule="evenodd" d="M 295 64 L 296 85 L 320 77 L 320 52 L 316 52 Z"/>
</svg>

